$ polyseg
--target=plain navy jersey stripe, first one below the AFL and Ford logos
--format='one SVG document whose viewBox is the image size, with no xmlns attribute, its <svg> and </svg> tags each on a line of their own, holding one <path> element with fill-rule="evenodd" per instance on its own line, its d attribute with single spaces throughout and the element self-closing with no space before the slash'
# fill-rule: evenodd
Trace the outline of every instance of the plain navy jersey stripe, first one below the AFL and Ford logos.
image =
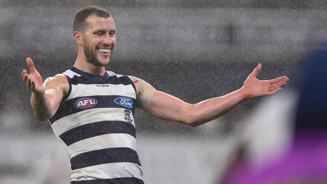
<svg viewBox="0 0 327 184">
<path fill-rule="evenodd" d="M 77 141 L 104 134 L 124 133 L 136 138 L 135 132 L 134 126 L 127 122 L 101 121 L 75 127 L 62 133 L 59 137 L 69 146 Z"/>
</svg>

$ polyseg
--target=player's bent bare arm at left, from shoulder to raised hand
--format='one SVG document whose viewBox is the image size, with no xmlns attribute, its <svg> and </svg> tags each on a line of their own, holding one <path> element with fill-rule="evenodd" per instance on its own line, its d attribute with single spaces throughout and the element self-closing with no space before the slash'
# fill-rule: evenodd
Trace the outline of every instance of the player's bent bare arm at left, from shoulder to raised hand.
<svg viewBox="0 0 327 184">
<path fill-rule="evenodd" d="M 22 71 L 22 78 L 26 86 L 31 89 L 31 105 L 37 119 L 43 121 L 51 118 L 59 108 L 61 99 L 69 89 L 67 78 L 56 75 L 47 78 L 44 83 L 40 73 L 34 67 L 31 58 L 26 58 L 30 74 Z"/>
</svg>

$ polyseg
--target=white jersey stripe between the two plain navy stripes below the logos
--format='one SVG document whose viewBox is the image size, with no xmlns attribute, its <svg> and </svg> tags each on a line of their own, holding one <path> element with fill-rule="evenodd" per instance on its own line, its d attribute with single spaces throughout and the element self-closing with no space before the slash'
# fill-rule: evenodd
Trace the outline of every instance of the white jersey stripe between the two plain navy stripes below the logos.
<svg viewBox="0 0 327 184">
<path fill-rule="evenodd" d="M 137 151 L 136 139 L 129 134 L 105 134 L 77 141 L 68 146 L 69 159 L 80 153 L 106 148 L 127 147 Z"/>
</svg>

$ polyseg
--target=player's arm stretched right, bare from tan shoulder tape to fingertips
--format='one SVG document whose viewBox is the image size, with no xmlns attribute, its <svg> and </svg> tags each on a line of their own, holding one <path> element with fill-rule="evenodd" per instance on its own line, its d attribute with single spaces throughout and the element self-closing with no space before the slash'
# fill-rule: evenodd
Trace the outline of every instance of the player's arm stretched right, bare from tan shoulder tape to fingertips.
<svg viewBox="0 0 327 184">
<path fill-rule="evenodd" d="M 259 64 L 240 89 L 197 104 L 188 104 L 161 91 L 155 91 L 150 105 L 145 111 L 157 118 L 191 126 L 201 125 L 224 115 L 247 99 L 275 94 L 289 80 L 286 76 L 271 80 L 259 80 L 257 76 L 261 68 L 262 66 Z"/>
</svg>

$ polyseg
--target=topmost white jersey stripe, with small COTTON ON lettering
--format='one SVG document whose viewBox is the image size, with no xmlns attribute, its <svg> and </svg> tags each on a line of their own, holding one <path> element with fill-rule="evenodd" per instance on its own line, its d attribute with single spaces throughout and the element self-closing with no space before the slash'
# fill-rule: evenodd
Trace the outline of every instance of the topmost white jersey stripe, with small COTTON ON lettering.
<svg viewBox="0 0 327 184">
<path fill-rule="evenodd" d="M 71 85 L 71 93 L 67 100 L 76 97 L 88 97 L 97 95 L 117 95 L 136 99 L 135 90 L 132 84 L 77 84 Z M 103 87 L 103 85 L 108 85 Z"/>
</svg>

